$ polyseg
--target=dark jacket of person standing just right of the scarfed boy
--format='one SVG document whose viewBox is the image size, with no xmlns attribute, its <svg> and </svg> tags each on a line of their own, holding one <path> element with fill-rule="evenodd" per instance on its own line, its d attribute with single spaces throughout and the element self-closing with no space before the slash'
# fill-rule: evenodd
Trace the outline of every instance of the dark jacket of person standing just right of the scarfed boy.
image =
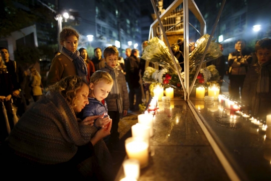
<svg viewBox="0 0 271 181">
<path fill-rule="evenodd" d="M 128 82 L 129 88 L 139 88 L 140 87 L 140 59 L 131 55 L 125 65 L 126 69 L 126 81 Z"/>
</svg>

